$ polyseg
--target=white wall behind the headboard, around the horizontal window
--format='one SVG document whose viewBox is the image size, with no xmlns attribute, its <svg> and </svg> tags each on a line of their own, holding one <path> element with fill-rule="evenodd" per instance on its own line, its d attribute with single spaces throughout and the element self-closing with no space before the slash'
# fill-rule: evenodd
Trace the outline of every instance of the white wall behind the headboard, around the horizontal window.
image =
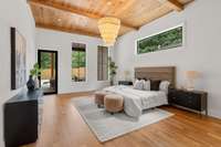
<svg viewBox="0 0 221 147">
<path fill-rule="evenodd" d="M 209 92 L 209 114 L 221 117 L 221 1 L 196 0 L 182 12 L 172 12 L 146 24 L 137 32 L 123 35 L 115 45 L 118 80 L 124 71 L 135 66 L 177 66 L 178 85 L 185 85 L 185 71 L 197 70 L 202 76 L 197 88 Z M 186 23 L 186 44 L 182 48 L 148 54 L 135 55 L 137 39 L 157 33 L 165 29 Z"/>
</svg>

